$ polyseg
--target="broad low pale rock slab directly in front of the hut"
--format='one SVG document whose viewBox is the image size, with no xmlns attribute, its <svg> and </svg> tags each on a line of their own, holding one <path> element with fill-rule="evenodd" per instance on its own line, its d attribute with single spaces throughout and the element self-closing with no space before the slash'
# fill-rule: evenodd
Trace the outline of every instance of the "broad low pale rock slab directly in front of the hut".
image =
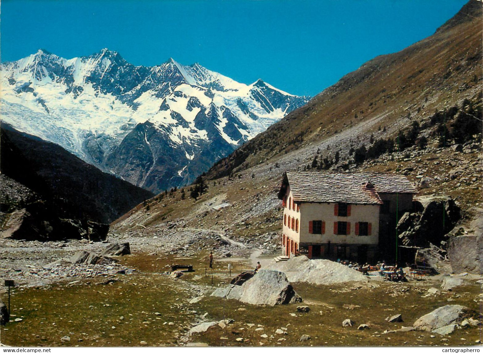
<svg viewBox="0 0 483 353">
<path fill-rule="evenodd" d="M 333 284 L 350 281 L 369 281 L 362 272 L 353 268 L 325 259 L 311 260 L 305 255 L 271 264 L 269 267 L 284 272 L 290 282 Z"/>
</svg>

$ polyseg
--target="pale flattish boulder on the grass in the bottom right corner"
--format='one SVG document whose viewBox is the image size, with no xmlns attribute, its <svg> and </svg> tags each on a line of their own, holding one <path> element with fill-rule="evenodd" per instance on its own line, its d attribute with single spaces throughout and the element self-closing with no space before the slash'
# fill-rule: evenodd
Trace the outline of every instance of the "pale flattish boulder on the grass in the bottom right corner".
<svg viewBox="0 0 483 353">
<path fill-rule="evenodd" d="M 457 324 L 469 316 L 469 309 L 462 305 L 445 305 L 421 316 L 414 322 L 414 328 L 433 331 L 443 326 Z"/>
</svg>

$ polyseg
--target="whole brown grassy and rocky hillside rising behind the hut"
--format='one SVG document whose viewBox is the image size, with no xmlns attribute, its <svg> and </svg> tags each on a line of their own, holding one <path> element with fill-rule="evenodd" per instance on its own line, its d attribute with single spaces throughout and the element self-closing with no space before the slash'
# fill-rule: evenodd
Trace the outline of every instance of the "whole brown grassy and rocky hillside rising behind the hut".
<svg viewBox="0 0 483 353">
<path fill-rule="evenodd" d="M 482 3 L 470 0 L 431 37 L 370 60 L 222 159 L 205 177 L 208 192 L 196 201 L 189 188 L 184 196 L 180 190 L 160 194 L 112 229 L 148 235 L 152 227 L 170 224 L 256 241 L 281 229 L 276 194 L 283 172 L 310 168 L 314 157 L 319 166 L 326 157 L 333 161 L 330 169 L 403 173 L 415 184 L 427 177 L 420 196 L 449 195 L 463 210 L 481 207 L 482 79 Z M 464 136 L 464 152 L 455 152 L 456 123 L 472 119 L 478 128 Z M 362 144 L 396 142 L 414 122 L 426 147 L 412 143 L 398 151 L 393 143 L 394 152 L 355 163 L 354 150 Z M 213 209 L 222 203 L 230 206 Z"/>
</svg>

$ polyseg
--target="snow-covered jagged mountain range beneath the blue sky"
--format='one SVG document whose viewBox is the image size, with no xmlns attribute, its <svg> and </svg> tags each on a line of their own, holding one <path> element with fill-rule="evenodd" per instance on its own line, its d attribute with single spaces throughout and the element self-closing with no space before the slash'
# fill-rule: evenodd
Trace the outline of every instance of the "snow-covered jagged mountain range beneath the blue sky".
<svg viewBox="0 0 483 353">
<path fill-rule="evenodd" d="M 191 182 L 308 101 L 199 64 L 134 66 L 108 49 L 39 50 L 0 70 L 3 121 L 154 192 Z"/>
</svg>

